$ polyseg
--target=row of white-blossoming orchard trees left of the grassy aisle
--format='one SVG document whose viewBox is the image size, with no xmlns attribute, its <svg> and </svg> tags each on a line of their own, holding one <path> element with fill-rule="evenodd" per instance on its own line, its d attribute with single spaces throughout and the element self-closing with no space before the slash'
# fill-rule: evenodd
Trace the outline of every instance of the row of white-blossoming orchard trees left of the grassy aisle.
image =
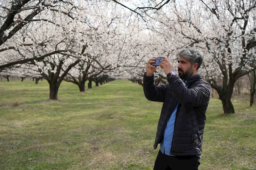
<svg viewBox="0 0 256 170">
<path fill-rule="evenodd" d="M 84 91 L 86 81 L 90 88 L 92 81 L 97 85 L 120 76 L 123 68 L 138 65 L 150 51 L 150 37 L 143 38 L 141 26 L 133 22 L 138 19 L 130 14 L 142 17 L 140 10 L 121 10 L 124 5 L 116 1 L 0 3 L 0 74 L 44 78 L 50 99 L 58 99 L 63 80 Z"/>
</svg>

